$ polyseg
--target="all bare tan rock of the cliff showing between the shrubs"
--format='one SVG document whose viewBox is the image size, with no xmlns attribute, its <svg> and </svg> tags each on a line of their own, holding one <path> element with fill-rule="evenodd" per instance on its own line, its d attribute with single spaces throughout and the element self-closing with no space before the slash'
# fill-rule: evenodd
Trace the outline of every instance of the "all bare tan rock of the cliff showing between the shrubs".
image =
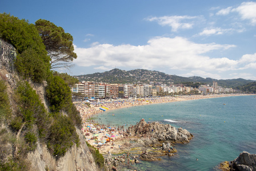
<svg viewBox="0 0 256 171">
<path fill-rule="evenodd" d="M 6 82 L 7 95 L 10 99 L 12 115 L 15 115 L 14 111 L 16 110 L 15 108 L 17 108 L 14 100 L 14 89 L 17 87 L 17 80 L 20 79 L 14 68 L 14 60 L 16 56 L 15 48 L 11 46 L 11 44 L 0 39 L 0 80 L 5 80 Z M 44 95 L 46 84 L 47 83 L 45 82 L 44 84 L 37 84 L 31 87 L 38 93 L 47 109 L 47 100 Z M 49 111 L 49 109 L 47 110 Z M 7 121 L 2 121 L 0 124 L 1 130 L 5 130 L 6 132 L 1 133 L 0 135 L 0 150 L 2 153 L 0 164 L 2 164 L 1 162 L 8 161 L 7 158 L 15 157 L 13 150 L 15 149 L 15 146 L 17 148 L 15 142 L 18 141 L 18 139 L 15 141 L 7 141 L 4 136 L 10 137 L 10 139 L 19 136 L 17 135 L 17 132 L 10 129 L 9 124 L 10 123 Z M 37 127 L 34 126 L 33 129 L 37 130 Z M 76 131 L 79 136 L 79 146 L 74 144 L 62 157 L 53 156 L 53 154 L 49 152 L 47 145 L 38 139 L 35 150 L 26 153 L 26 156 L 24 156 L 30 170 L 100 170 L 95 164 L 93 154 L 90 153 L 81 131 L 78 128 L 76 128 Z M 21 137 L 21 139 L 22 138 L 23 137 Z"/>
</svg>

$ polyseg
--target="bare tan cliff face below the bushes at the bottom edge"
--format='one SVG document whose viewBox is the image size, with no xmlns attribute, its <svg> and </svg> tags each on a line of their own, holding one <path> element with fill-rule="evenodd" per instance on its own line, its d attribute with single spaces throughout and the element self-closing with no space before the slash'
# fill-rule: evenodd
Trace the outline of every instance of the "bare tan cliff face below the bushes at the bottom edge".
<svg viewBox="0 0 256 171">
<path fill-rule="evenodd" d="M 27 155 L 27 160 L 31 162 L 30 170 L 99 170 L 94 162 L 93 155 L 90 153 L 82 133 L 77 129 L 80 138 L 80 145 L 73 145 L 65 156 L 56 159 L 52 156 L 45 144 L 37 144 L 37 149 Z"/>
</svg>

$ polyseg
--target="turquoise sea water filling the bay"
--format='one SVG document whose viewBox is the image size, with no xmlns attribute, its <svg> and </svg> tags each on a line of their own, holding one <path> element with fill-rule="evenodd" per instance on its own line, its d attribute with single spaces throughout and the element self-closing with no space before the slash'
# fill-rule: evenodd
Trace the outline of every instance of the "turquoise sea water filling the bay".
<svg viewBox="0 0 256 171">
<path fill-rule="evenodd" d="M 174 157 L 164 156 L 161 161 L 142 162 L 135 165 L 138 170 L 216 170 L 220 162 L 234 160 L 243 151 L 256 153 L 254 96 L 123 108 L 98 115 L 96 120 L 118 126 L 136 124 L 142 118 L 185 128 L 194 138 L 188 144 L 176 145 L 178 152 Z"/>
</svg>

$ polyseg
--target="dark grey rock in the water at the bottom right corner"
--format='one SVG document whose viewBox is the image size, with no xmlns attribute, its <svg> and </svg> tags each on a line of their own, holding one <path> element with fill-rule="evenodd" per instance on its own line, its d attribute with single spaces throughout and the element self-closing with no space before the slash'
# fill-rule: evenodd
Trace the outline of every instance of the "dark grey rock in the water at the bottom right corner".
<svg viewBox="0 0 256 171">
<path fill-rule="evenodd" d="M 256 154 L 242 152 L 230 162 L 230 170 L 255 171 L 256 170 Z"/>
</svg>

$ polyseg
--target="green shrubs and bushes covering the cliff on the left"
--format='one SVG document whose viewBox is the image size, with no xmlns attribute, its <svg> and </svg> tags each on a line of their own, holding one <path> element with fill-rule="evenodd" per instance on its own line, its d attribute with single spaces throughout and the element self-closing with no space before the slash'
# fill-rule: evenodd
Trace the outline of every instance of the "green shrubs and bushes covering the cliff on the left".
<svg viewBox="0 0 256 171">
<path fill-rule="evenodd" d="M 18 83 L 9 93 L 7 82 L 0 78 L 0 120 L 5 125 L 0 129 L 0 170 L 27 170 L 26 154 L 37 148 L 37 141 L 47 144 L 57 158 L 73 144 L 79 145 L 75 127 L 81 128 L 82 119 L 71 101 L 69 87 L 78 80 L 50 71 L 50 57 L 43 40 L 35 25 L 25 19 L 0 14 L 0 38 L 17 50 L 15 70 L 19 74 L 19 81 L 15 81 Z M 49 110 L 30 82 L 47 84 Z"/>
</svg>

